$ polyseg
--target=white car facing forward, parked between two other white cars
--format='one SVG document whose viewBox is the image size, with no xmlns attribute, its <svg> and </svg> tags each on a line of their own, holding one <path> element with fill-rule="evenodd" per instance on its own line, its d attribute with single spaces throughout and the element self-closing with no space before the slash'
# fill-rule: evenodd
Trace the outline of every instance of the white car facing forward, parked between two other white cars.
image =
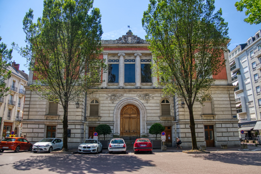
<svg viewBox="0 0 261 174">
<path fill-rule="evenodd" d="M 96 153 L 102 152 L 102 145 L 97 139 L 87 139 L 78 148 L 78 153 Z"/>
</svg>

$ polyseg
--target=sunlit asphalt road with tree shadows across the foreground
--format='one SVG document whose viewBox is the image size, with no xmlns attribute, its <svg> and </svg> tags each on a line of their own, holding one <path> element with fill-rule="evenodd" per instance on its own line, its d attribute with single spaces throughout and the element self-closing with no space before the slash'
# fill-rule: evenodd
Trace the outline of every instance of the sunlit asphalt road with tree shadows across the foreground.
<svg viewBox="0 0 261 174">
<path fill-rule="evenodd" d="M 261 149 L 108 154 L 0 153 L 0 174 L 261 174 Z"/>
</svg>

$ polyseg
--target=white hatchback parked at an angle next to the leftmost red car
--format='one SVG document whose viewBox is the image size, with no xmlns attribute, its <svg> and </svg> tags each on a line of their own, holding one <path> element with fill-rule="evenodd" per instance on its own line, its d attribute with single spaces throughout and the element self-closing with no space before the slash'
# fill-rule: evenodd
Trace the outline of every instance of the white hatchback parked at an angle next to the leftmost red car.
<svg viewBox="0 0 261 174">
<path fill-rule="evenodd" d="M 63 149 L 63 141 L 58 138 L 45 138 L 33 145 L 33 153 L 37 152 L 52 152 Z"/>
</svg>

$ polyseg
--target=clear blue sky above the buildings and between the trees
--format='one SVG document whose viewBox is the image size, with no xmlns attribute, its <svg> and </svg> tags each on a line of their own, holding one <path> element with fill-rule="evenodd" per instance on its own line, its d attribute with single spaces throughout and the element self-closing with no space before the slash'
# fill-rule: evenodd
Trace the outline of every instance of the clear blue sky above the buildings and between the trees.
<svg viewBox="0 0 261 174">
<path fill-rule="evenodd" d="M 229 36 L 232 39 L 229 49 L 233 50 L 238 44 L 245 43 L 248 38 L 261 29 L 261 24 L 250 25 L 244 22 L 245 13 L 236 10 L 234 4 L 238 0 L 216 0 L 216 9 L 222 8 L 223 17 L 228 22 Z M 94 7 L 100 8 L 101 24 L 103 29 L 102 39 L 117 39 L 128 30 L 130 25 L 132 32 L 141 38 L 145 38 L 145 30 L 142 28 L 141 19 L 143 11 L 148 8 L 149 0 L 94 0 Z M 34 18 L 42 15 L 43 0 L 0 0 L 0 36 L 1 42 L 11 48 L 15 42 L 19 46 L 25 46 L 25 34 L 22 29 L 22 20 L 25 13 L 32 8 Z M 20 64 L 20 70 L 29 74 L 24 66 L 25 58 L 13 51 L 13 58 Z"/>
</svg>

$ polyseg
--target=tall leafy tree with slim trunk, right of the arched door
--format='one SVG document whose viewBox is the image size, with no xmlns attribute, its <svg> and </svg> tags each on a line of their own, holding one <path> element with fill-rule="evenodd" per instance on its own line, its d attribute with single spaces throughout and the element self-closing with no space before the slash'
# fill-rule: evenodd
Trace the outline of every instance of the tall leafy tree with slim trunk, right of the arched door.
<svg viewBox="0 0 261 174">
<path fill-rule="evenodd" d="M 198 149 L 193 105 L 201 104 L 225 67 L 228 23 L 214 13 L 214 0 L 150 0 L 142 25 L 154 55 L 153 74 L 167 82 L 165 95 L 183 98 L 189 110 L 192 150 Z"/>
</svg>

